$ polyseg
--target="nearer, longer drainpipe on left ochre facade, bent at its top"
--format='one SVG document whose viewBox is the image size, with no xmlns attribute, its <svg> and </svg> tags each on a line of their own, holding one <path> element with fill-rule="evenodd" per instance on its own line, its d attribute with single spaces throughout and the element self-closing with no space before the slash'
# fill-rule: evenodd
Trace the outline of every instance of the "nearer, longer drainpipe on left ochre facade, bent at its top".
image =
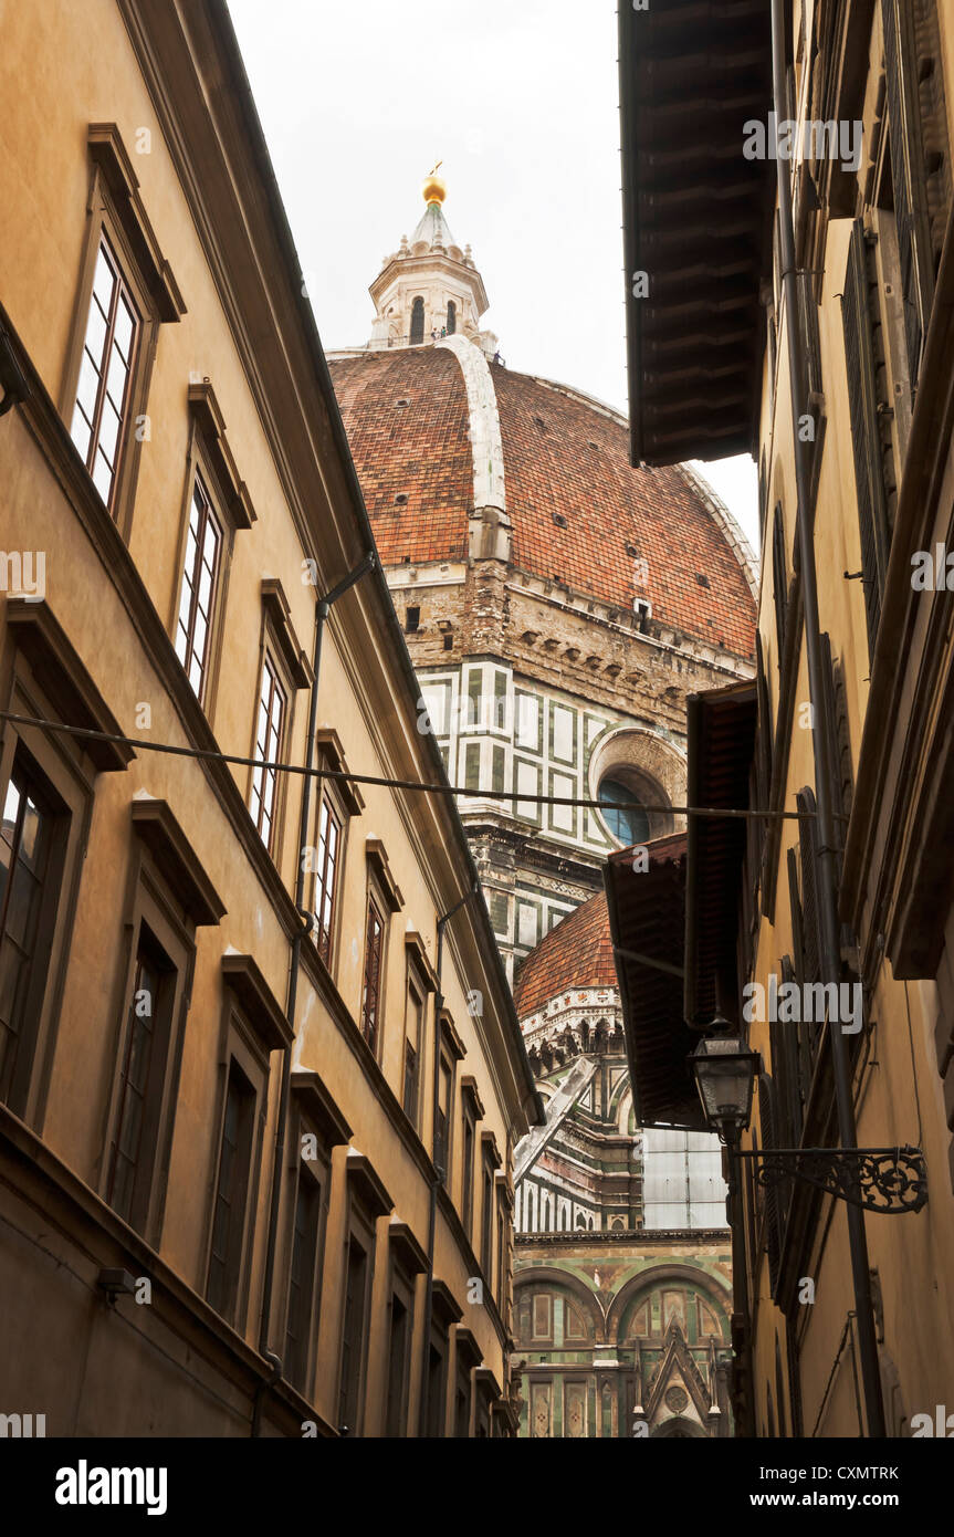
<svg viewBox="0 0 954 1537">
<path fill-rule="evenodd" d="M 318 603 L 318 612 L 315 618 L 315 652 L 312 659 L 312 689 L 309 699 L 309 733 L 304 745 L 304 767 L 310 770 L 315 764 L 315 729 L 318 725 L 318 679 L 321 675 L 321 641 L 324 638 L 324 626 L 332 606 L 353 587 L 366 572 L 373 570 L 376 564 L 376 555 L 373 550 L 364 556 L 364 559 L 355 566 L 347 576 L 338 583 L 336 587 L 321 598 Z M 309 836 L 309 819 L 312 812 L 312 775 L 306 772 L 303 775 L 304 784 L 301 787 L 301 816 L 298 821 L 298 871 L 295 876 L 295 908 L 301 918 L 301 927 L 295 931 L 292 938 L 292 954 L 289 962 L 289 990 L 284 1016 L 289 1024 L 292 1034 L 295 1033 L 295 1008 L 298 1004 L 298 967 L 301 962 L 301 941 L 309 933 L 312 927 L 312 915 L 304 907 L 304 861 L 301 856 Z M 284 1167 L 284 1142 L 289 1120 L 289 1090 L 292 1084 L 292 1047 L 287 1045 L 281 1053 L 281 1088 L 278 1094 L 278 1124 L 275 1127 L 275 1162 L 272 1167 L 272 1194 L 269 1205 L 269 1237 L 266 1245 L 266 1266 L 264 1266 L 264 1282 L 261 1290 L 261 1323 L 258 1330 L 258 1349 L 266 1357 L 272 1366 L 272 1376 L 260 1383 L 255 1393 L 255 1406 L 252 1414 L 252 1436 L 261 1434 L 261 1400 L 264 1394 L 281 1379 L 283 1360 L 269 1346 L 269 1320 L 272 1313 L 272 1294 L 275 1290 L 275 1253 L 278 1247 L 278 1210 L 281 1205 L 281 1176 Z"/>
</svg>

